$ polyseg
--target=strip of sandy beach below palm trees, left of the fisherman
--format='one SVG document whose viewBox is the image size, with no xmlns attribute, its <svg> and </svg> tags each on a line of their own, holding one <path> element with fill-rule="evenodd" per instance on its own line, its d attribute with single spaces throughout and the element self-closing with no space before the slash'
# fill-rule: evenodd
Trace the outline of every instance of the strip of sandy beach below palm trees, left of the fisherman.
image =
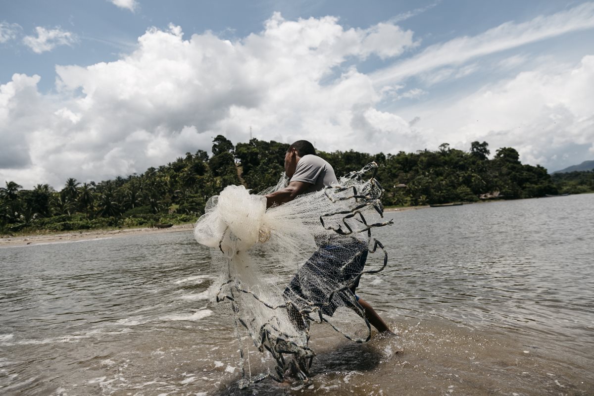
<svg viewBox="0 0 594 396">
<path fill-rule="evenodd" d="M 46 243 L 82 242 L 127 235 L 150 235 L 182 232 L 194 229 L 194 223 L 177 224 L 170 228 L 127 228 L 117 230 L 72 231 L 67 233 L 0 237 L 0 248 L 40 245 Z"/>
</svg>

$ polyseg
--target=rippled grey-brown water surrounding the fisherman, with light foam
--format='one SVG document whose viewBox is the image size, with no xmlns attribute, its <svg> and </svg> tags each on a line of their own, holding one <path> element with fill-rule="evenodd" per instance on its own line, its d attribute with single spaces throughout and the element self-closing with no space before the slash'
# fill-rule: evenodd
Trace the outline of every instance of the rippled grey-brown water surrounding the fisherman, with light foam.
<svg viewBox="0 0 594 396">
<path fill-rule="evenodd" d="M 0 394 L 594 394 L 594 194 L 387 215 L 390 262 L 358 294 L 399 337 L 314 325 L 304 388 L 238 389 L 191 232 L 0 248 Z M 248 346 L 248 375 L 264 372 Z"/>
</svg>

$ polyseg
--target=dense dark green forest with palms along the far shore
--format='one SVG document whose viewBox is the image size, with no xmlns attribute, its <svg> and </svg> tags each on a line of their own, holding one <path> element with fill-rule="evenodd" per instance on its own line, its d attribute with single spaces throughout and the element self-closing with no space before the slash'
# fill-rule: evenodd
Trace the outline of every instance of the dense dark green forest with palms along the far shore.
<svg viewBox="0 0 594 396">
<path fill-rule="evenodd" d="M 225 186 L 243 184 L 254 192 L 275 185 L 283 174 L 287 144 L 252 139 L 233 145 L 217 136 L 211 156 L 186 153 L 167 165 L 138 175 L 80 183 L 66 180 L 56 191 L 47 184 L 23 189 L 7 181 L 0 187 L 0 233 L 65 231 L 106 227 L 155 226 L 194 221 L 209 197 Z M 594 191 L 594 172 L 556 173 L 522 164 L 514 148 L 503 147 L 489 159 L 486 142 L 468 152 L 450 148 L 416 153 L 366 154 L 334 151 L 319 156 L 345 175 L 375 161 L 386 190 L 384 205 L 426 205 L 518 199 L 547 194 Z"/>
</svg>

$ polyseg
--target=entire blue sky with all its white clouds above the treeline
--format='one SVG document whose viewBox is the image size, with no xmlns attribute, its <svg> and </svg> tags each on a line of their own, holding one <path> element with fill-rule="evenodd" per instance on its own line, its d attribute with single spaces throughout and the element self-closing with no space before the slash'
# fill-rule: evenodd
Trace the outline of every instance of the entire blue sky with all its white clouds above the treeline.
<svg viewBox="0 0 594 396">
<path fill-rule="evenodd" d="M 143 173 L 213 137 L 594 159 L 594 2 L 0 0 L 0 184 Z"/>
</svg>

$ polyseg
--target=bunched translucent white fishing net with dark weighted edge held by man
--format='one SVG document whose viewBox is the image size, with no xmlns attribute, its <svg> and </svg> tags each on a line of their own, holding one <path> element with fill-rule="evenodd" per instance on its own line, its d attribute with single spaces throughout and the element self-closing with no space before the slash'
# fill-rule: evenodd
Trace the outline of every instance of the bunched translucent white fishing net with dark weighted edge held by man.
<svg viewBox="0 0 594 396">
<path fill-rule="evenodd" d="M 228 303 L 235 319 L 242 386 L 265 376 L 283 381 L 287 370 L 307 378 L 315 355 L 308 347 L 310 322 L 328 323 L 359 343 L 371 337 L 353 290 L 362 275 L 387 264 L 384 246 L 371 236 L 374 227 L 391 224 L 382 220 L 383 190 L 369 178 L 375 169 L 377 164 L 368 164 L 337 185 L 268 210 L 264 194 L 283 188 L 284 176 L 260 194 L 228 186 L 208 200 L 194 236 L 210 246 L 220 275 L 214 299 Z M 381 264 L 364 268 L 367 255 L 378 250 Z M 241 332 L 274 357 L 274 370 L 246 378 Z"/>
</svg>

